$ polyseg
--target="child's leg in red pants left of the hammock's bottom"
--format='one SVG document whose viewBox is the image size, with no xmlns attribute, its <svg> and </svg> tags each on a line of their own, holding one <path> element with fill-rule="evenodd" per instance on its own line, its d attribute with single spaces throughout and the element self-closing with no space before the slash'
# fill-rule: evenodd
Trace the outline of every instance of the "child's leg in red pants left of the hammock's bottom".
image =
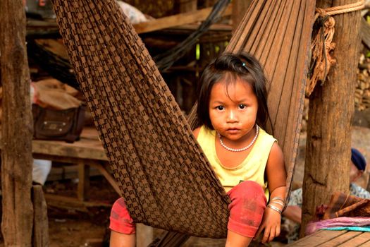
<svg viewBox="0 0 370 247">
<path fill-rule="evenodd" d="M 135 246 L 135 223 L 128 213 L 125 201 L 119 198 L 111 210 L 110 246 L 133 247 Z"/>
</svg>

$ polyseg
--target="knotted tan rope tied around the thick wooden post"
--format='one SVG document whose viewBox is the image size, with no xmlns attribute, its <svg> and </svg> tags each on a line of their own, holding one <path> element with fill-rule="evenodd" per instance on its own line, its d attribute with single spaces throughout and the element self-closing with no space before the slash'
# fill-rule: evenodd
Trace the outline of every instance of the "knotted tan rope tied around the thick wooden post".
<svg viewBox="0 0 370 247">
<path fill-rule="evenodd" d="M 311 95 L 316 87 L 316 83 L 320 80 L 321 85 L 326 80 L 328 71 L 335 64 L 335 59 L 330 53 L 335 49 L 333 43 L 335 20 L 332 16 L 359 11 L 365 7 L 365 1 L 361 0 L 354 4 L 346 4 L 343 6 L 335 6 L 331 8 L 316 8 L 315 23 L 319 25 L 319 30 L 312 39 L 312 59 L 311 73 L 309 83 L 307 83 L 306 96 Z"/>
</svg>

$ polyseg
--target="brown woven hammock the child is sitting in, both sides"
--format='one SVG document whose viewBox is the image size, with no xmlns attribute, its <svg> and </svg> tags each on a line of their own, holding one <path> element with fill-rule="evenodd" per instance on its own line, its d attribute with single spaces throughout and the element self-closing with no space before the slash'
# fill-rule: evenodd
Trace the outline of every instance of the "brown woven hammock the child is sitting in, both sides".
<svg viewBox="0 0 370 247">
<path fill-rule="evenodd" d="M 261 60 L 289 179 L 297 154 L 314 1 L 254 1 L 228 51 Z M 135 222 L 223 238 L 228 203 L 154 61 L 116 0 L 53 0 L 70 61 Z M 192 114 L 191 123 L 196 123 Z"/>
</svg>

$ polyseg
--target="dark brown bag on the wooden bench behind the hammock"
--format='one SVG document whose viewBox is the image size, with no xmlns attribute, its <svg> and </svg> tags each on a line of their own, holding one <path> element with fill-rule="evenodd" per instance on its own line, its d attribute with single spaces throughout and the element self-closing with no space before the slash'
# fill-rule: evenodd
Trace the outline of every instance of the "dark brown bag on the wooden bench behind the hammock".
<svg viewBox="0 0 370 247">
<path fill-rule="evenodd" d="M 73 143 L 80 138 L 85 121 L 85 106 L 55 110 L 32 104 L 34 139 L 66 140 Z"/>
</svg>

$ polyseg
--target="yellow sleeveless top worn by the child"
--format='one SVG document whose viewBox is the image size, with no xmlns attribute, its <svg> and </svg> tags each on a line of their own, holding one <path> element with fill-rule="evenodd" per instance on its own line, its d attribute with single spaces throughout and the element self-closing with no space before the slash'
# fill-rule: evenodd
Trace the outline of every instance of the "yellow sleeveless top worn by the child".
<svg viewBox="0 0 370 247">
<path fill-rule="evenodd" d="M 276 142 L 272 135 L 259 128 L 258 138 L 249 155 L 238 167 L 233 168 L 224 167 L 217 157 L 216 131 L 202 126 L 197 140 L 226 192 L 237 186 L 241 181 L 255 181 L 264 189 L 266 199 L 269 200 L 269 188 L 267 187 L 267 181 L 264 180 L 264 171 L 271 147 Z"/>
</svg>

